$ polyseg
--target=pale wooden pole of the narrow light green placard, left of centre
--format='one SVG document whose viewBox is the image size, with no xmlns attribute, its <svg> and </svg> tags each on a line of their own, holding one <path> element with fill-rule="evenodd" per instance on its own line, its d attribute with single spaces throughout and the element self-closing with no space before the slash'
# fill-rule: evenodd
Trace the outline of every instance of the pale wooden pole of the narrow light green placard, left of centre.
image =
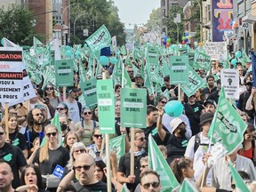
<svg viewBox="0 0 256 192">
<path fill-rule="evenodd" d="M 99 64 L 98 64 L 99 65 Z M 107 72 L 102 73 L 102 79 L 106 80 L 107 79 Z M 110 170 L 110 150 L 109 150 L 109 134 L 105 134 L 105 140 L 106 140 L 106 158 L 107 158 L 107 188 L 108 192 L 111 192 L 111 170 Z M 100 154 L 102 156 L 104 149 L 104 139 L 102 140 L 101 148 L 100 148 Z"/>
</svg>

